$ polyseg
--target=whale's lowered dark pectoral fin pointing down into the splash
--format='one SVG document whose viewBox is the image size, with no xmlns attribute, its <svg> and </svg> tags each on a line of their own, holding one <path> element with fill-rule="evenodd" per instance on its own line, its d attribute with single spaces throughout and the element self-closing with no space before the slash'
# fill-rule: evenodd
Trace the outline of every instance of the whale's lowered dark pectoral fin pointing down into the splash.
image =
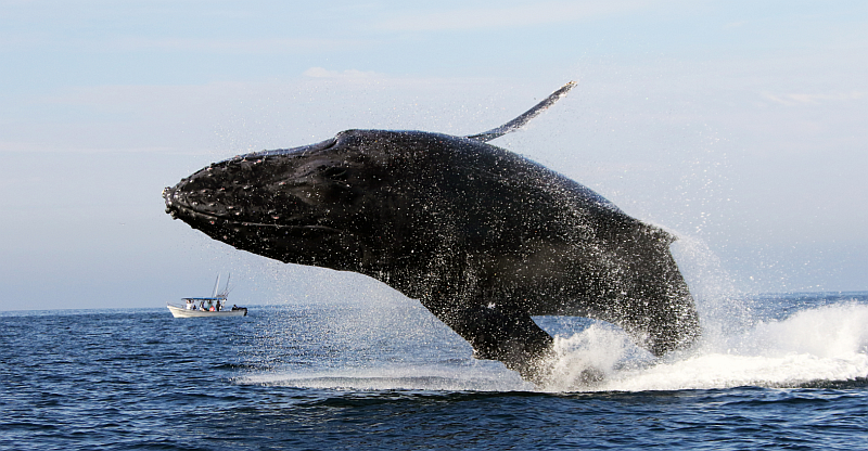
<svg viewBox="0 0 868 451">
<path fill-rule="evenodd" d="M 474 358 L 498 360 L 527 381 L 542 375 L 553 339 L 526 312 L 475 306 L 441 319 L 473 346 Z"/>
</svg>

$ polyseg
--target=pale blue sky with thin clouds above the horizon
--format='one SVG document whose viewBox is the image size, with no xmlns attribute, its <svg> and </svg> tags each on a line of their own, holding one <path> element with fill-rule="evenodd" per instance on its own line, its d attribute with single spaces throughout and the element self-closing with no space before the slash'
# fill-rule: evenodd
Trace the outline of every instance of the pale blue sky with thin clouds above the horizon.
<svg viewBox="0 0 868 451">
<path fill-rule="evenodd" d="M 472 134 L 661 226 L 698 297 L 868 289 L 864 1 L 0 0 L 0 310 L 394 296 L 164 212 L 216 160 Z"/>
</svg>

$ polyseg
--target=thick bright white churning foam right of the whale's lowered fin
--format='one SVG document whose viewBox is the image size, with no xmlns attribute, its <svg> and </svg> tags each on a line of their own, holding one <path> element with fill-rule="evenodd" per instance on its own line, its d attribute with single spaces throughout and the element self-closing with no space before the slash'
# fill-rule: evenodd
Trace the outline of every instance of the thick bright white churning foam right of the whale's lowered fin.
<svg viewBox="0 0 868 451">
<path fill-rule="evenodd" d="M 559 338 L 546 390 L 679 390 L 796 387 L 868 377 L 868 306 L 839 304 L 762 321 L 660 361 L 636 357 L 616 331 L 591 326 Z M 633 356 L 630 356 L 633 353 Z M 587 374 L 602 373 L 588 378 Z"/>
</svg>

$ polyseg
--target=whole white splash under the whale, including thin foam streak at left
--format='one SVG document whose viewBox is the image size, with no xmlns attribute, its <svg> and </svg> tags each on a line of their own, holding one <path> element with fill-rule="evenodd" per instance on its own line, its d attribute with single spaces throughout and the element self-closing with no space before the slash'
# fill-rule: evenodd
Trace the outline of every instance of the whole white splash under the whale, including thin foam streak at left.
<svg viewBox="0 0 868 451">
<path fill-rule="evenodd" d="M 868 306 L 843 302 L 711 334 L 693 350 L 654 359 L 621 330 L 592 323 L 556 337 L 552 376 L 535 387 L 496 362 L 247 375 L 241 384 L 354 390 L 644 391 L 800 387 L 868 377 Z"/>
</svg>

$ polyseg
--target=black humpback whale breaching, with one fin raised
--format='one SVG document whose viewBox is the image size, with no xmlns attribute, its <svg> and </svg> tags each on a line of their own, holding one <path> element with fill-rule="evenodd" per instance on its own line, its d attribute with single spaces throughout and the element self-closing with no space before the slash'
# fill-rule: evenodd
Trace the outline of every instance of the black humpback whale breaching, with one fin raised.
<svg viewBox="0 0 868 451">
<path fill-rule="evenodd" d="M 346 130 L 214 163 L 163 191 L 166 211 L 239 249 L 376 279 L 528 381 L 553 344 L 534 315 L 607 321 L 655 356 L 686 348 L 700 326 L 675 237 L 487 144 L 573 85 L 473 136 Z"/>
</svg>

